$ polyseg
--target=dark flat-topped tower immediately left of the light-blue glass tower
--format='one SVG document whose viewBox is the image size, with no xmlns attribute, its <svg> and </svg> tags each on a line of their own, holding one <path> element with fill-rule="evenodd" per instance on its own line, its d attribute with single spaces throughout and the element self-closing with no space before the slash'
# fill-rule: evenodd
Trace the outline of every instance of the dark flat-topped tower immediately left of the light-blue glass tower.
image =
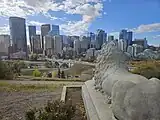
<svg viewBox="0 0 160 120">
<path fill-rule="evenodd" d="M 48 35 L 48 32 L 50 30 L 51 30 L 50 24 L 44 24 L 41 26 L 41 36 L 42 36 L 41 45 L 43 49 L 44 49 L 44 36 Z"/>
</svg>

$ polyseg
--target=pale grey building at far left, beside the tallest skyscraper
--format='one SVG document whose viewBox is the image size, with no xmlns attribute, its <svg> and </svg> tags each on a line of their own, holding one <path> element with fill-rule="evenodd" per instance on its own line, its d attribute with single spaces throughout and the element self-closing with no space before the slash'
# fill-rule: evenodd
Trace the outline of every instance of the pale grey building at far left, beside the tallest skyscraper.
<svg viewBox="0 0 160 120">
<path fill-rule="evenodd" d="M 0 53 L 8 54 L 9 45 L 10 45 L 10 36 L 0 35 Z"/>
</svg>

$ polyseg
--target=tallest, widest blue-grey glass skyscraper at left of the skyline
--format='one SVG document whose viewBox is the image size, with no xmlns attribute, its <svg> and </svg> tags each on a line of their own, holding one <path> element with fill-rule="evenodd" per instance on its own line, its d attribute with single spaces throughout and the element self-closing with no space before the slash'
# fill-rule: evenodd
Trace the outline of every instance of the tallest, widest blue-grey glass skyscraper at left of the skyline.
<svg viewBox="0 0 160 120">
<path fill-rule="evenodd" d="M 20 17 L 10 17 L 10 37 L 14 47 L 14 52 L 23 51 L 27 55 L 27 39 L 25 19 Z"/>
</svg>

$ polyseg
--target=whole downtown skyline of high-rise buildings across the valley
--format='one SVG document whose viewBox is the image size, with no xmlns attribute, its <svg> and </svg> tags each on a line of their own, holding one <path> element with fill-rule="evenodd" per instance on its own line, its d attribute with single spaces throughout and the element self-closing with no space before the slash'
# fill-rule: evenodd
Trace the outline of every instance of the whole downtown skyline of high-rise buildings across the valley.
<svg viewBox="0 0 160 120">
<path fill-rule="evenodd" d="M 133 40 L 133 32 L 121 30 L 119 38 L 98 29 L 95 33 L 88 32 L 84 36 L 66 36 L 60 34 L 58 25 L 41 25 L 41 34 L 36 34 L 36 26 L 27 26 L 29 43 L 27 45 L 26 21 L 24 18 L 9 18 L 10 35 L 0 35 L 0 53 L 9 58 L 27 59 L 29 54 L 42 54 L 48 57 L 76 58 L 93 57 L 101 50 L 104 43 L 112 40 L 117 42 L 120 50 L 130 53 L 132 57 L 154 46 L 148 46 L 146 38 Z M 1 55 L 2 56 L 2 55 Z"/>
</svg>

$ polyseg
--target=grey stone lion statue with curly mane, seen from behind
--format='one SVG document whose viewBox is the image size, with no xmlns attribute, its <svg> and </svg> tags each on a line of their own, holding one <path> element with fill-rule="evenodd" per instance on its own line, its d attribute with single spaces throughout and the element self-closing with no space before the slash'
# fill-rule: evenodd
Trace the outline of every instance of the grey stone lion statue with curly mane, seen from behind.
<svg viewBox="0 0 160 120">
<path fill-rule="evenodd" d="M 103 45 L 93 78 L 95 88 L 107 96 L 117 120 L 160 120 L 160 80 L 130 73 L 128 60 L 115 41 Z"/>
</svg>

